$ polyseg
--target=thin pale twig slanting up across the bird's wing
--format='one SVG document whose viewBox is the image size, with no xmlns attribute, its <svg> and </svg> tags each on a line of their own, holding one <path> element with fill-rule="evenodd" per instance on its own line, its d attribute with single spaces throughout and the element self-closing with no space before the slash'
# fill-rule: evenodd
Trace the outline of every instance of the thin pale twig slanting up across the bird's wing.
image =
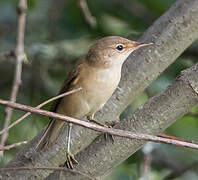
<svg viewBox="0 0 198 180">
<path fill-rule="evenodd" d="M 38 106 L 36 106 L 36 108 L 40 109 L 41 107 L 43 107 L 44 105 L 52 102 L 52 101 L 55 101 L 56 99 L 59 99 L 59 98 L 62 98 L 64 96 L 67 96 L 69 94 L 72 94 L 72 93 L 75 93 L 75 92 L 78 92 L 80 91 L 82 88 L 78 88 L 78 89 L 74 89 L 74 90 L 71 90 L 71 91 L 68 91 L 66 93 L 63 93 L 63 94 L 60 94 L 58 96 L 55 96 L 51 99 L 48 99 L 47 101 L 44 101 L 43 103 L 39 104 Z M 4 133 L 5 131 L 8 131 L 10 128 L 14 127 L 16 124 L 20 123 L 22 120 L 24 120 L 26 117 L 28 117 L 29 115 L 31 114 L 31 112 L 28 112 L 26 114 L 24 114 L 21 118 L 19 118 L 18 120 L 16 120 L 15 122 L 13 122 L 10 126 L 8 126 L 7 128 L 4 128 L 0 131 L 0 135 L 2 133 Z"/>
</svg>

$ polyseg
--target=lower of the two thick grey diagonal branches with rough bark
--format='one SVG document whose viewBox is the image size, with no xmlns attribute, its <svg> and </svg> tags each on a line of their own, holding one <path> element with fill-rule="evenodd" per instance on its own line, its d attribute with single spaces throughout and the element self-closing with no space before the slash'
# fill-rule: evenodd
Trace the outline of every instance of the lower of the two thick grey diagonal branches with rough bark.
<svg viewBox="0 0 198 180">
<path fill-rule="evenodd" d="M 182 71 L 180 76 L 158 95 L 149 99 L 132 115 L 114 128 L 132 132 L 154 134 L 162 132 L 170 124 L 198 104 L 198 63 Z M 75 171 L 89 177 L 100 178 L 135 153 L 145 141 L 115 137 L 115 142 L 98 137 L 84 151 L 77 154 L 79 165 Z M 70 172 L 55 172 L 46 178 L 83 180 L 84 175 L 76 176 Z"/>
</svg>

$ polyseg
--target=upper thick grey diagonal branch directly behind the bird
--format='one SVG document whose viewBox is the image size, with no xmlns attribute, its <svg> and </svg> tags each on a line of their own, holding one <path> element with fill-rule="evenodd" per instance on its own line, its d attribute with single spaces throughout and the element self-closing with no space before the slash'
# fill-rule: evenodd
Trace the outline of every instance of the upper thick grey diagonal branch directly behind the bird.
<svg viewBox="0 0 198 180">
<path fill-rule="evenodd" d="M 198 1 L 178 0 L 141 37 L 141 41 L 152 41 L 155 45 L 153 47 L 145 48 L 144 50 L 137 50 L 128 58 L 128 61 L 123 68 L 122 80 L 119 88 L 102 111 L 96 114 L 96 119 L 100 122 L 114 121 L 140 92 L 142 92 L 157 76 L 160 75 L 161 72 L 173 63 L 194 40 L 198 38 L 197 29 Z M 136 127 L 136 124 L 139 126 L 143 123 L 143 127 L 145 128 L 148 122 L 141 122 L 141 119 L 136 119 L 136 122 L 133 123 L 134 127 Z M 159 129 L 162 131 L 167 127 L 167 124 L 161 122 L 160 126 L 155 128 L 148 126 L 151 128 L 149 131 L 153 133 L 157 132 Z M 15 158 L 6 167 L 29 167 L 32 165 L 35 167 L 59 166 L 65 161 L 66 133 L 65 129 L 57 140 L 57 143 L 47 151 L 41 153 L 34 151 L 35 144 L 40 138 L 40 135 L 38 135 L 24 149 L 17 153 Z M 72 131 L 71 151 L 74 154 L 77 154 L 94 141 L 98 135 L 99 133 L 97 132 L 74 126 Z M 137 141 L 132 142 L 135 143 Z M 136 146 L 134 145 L 133 152 L 138 148 L 139 144 Z M 100 150 L 103 152 L 102 149 Z M 123 154 L 124 151 L 121 151 L 119 155 L 120 159 L 116 159 L 117 163 L 125 159 L 122 157 Z M 82 156 L 82 158 L 83 157 L 84 156 Z M 102 156 L 99 157 L 101 159 Z M 104 156 L 103 159 L 105 158 L 106 157 Z M 10 179 L 43 179 L 47 177 L 49 173 L 50 171 L 14 171 L 9 172 L 8 174 Z M 94 176 L 100 175 L 100 173 L 96 172 Z M 5 174 L 3 177 L 5 177 Z"/>
</svg>

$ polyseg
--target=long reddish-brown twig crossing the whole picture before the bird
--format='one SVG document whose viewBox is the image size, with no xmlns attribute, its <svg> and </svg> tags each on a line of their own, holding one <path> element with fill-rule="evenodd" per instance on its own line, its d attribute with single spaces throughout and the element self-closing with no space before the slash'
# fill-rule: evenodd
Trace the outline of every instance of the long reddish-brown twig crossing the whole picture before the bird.
<svg viewBox="0 0 198 180">
<path fill-rule="evenodd" d="M 124 131 L 120 129 L 113 129 L 113 128 L 106 128 L 103 126 L 99 126 L 93 123 L 81 121 L 75 118 L 71 118 L 62 114 L 46 111 L 46 110 L 41 110 L 38 108 L 34 108 L 31 106 L 26 106 L 22 105 L 19 103 L 14 103 L 6 100 L 0 99 L 0 104 L 10 106 L 12 108 L 20 109 L 22 111 L 28 111 L 36 114 L 41 114 L 44 116 L 52 117 L 55 119 L 59 119 L 61 121 L 65 121 L 67 123 L 73 123 L 77 124 L 95 131 L 103 132 L 103 133 L 109 133 L 112 135 L 120 136 L 120 137 L 126 137 L 130 139 L 139 139 L 139 140 L 146 140 L 146 141 L 152 141 L 152 142 L 159 142 L 159 143 L 165 143 L 165 144 L 172 144 L 176 146 L 182 146 L 182 147 L 188 147 L 192 149 L 198 149 L 198 144 L 191 143 L 191 142 L 183 142 L 180 140 L 174 140 L 174 139 L 169 139 L 169 138 L 162 138 L 162 137 L 157 137 L 153 135 L 148 135 L 148 134 L 142 134 L 142 133 L 132 133 L 130 131 Z"/>
</svg>

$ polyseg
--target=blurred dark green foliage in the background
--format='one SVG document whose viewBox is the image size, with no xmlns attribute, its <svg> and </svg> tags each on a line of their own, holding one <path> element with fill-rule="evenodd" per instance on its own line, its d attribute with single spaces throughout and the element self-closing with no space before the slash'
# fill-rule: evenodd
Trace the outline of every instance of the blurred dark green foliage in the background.
<svg viewBox="0 0 198 180">
<path fill-rule="evenodd" d="M 17 0 L 0 1 L 0 55 L 15 46 Z M 83 18 L 76 0 L 28 0 L 25 49 L 28 63 L 23 66 L 23 84 L 17 102 L 36 106 L 54 96 L 72 68 L 75 59 L 86 53 L 89 45 L 107 35 L 138 39 L 175 0 L 88 0 L 90 12 L 97 20 L 91 28 Z M 175 77 L 198 59 L 195 43 L 165 70 L 124 111 L 122 118 L 133 112 L 148 98 L 169 85 Z M 8 99 L 12 85 L 14 62 L 0 60 L 0 97 Z M 49 109 L 50 105 L 44 107 Z M 0 127 L 3 126 L 4 107 L 0 106 Z M 12 122 L 23 113 L 14 111 Z M 198 138 L 198 107 L 177 120 L 166 134 L 187 140 Z M 46 117 L 32 115 L 9 131 L 6 144 L 32 139 L 47 124 Z M 0 153 L 3 167 L 21 147 Z M 146 149 L 146 150 L 145 150 Z M 151 157 L 146 174 L 142 173 L 145 157 Z M 175 180 L 198 179 L 198 152 L 164 144 L 147 143 L 124 163 L 116 167 L 106 180 L 159 180 L 182 171 Z M 193 166 L 192 166 L 193 165 Z M 192 167 L 191 167 L 192 166 Z M 188 168 L 189 167 L 189 168 Z M 187 169 L 186 171 L 183 169 Z"/>
</svg>

